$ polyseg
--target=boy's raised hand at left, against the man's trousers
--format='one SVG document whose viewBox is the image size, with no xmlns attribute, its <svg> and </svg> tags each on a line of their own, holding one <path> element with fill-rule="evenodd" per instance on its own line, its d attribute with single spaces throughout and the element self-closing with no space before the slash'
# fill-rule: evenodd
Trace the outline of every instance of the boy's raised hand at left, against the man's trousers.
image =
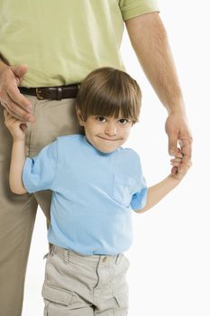
<svg viewBox="0 0 210 316">
<path fill-rule="evenodd" d="M 11 135 L 14 137 L 14 141 L 23 141 L 25 138 L 27 124 L 14 118 L 14 116 L 11 116 L 6 109 L 4 110 L 4 116 L 5 125 L 9 129 Z"/>
</svg>

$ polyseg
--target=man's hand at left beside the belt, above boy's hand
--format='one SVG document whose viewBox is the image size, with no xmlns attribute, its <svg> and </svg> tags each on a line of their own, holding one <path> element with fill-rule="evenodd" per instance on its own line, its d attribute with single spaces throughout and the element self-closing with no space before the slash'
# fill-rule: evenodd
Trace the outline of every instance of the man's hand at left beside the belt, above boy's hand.
<svg viewBox="0 0 210 316">
<path fill-rule="evenodd" d="M 0 67 L 0 102 L 7 112 L 23 122 L 35 122 L 32 105 L 19 91 L 19 84 L 28 71 L 24 64 Z"/>
</svg>

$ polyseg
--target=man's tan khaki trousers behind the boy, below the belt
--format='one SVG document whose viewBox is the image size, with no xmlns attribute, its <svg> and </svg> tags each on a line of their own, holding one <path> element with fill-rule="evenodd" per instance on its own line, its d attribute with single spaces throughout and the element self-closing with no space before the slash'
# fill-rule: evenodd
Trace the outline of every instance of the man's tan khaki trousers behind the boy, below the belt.
<svg viewBox="0 0 210 316">
<path fill-rule="evenodd" d="M 74 99 L 60 101 L 27 98 L 32 103 L 34 124 L 26 131 L 26 155 L 33 157 L 59 135 L 78 133 Z M 23 286 L 32 230 L 38 204 L 50 220 L 50 191 L 15 195 L 8 176 L 12 136 L 5 127 L 0 105 L 0 315 L 21 316 Z"/>
</svg>

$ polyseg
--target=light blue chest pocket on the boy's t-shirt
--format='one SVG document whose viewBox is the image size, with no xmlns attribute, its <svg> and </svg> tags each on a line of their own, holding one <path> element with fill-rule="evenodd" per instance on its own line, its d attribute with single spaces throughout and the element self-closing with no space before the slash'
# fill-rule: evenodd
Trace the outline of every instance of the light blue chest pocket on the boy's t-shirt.
<svg viewBox="0 0 210 316">
<path fill-rule="evenodd" d="M 135 180 L 132 177 L 114 173 L 113 198 L 128 208 L 132 200 Z"/>
</svg>

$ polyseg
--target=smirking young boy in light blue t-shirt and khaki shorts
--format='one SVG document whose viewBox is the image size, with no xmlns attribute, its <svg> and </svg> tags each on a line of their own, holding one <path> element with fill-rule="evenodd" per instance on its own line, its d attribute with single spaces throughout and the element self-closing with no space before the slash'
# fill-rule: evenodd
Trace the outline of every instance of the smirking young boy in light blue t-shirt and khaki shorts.
<svg viewBox="0 0 210 316">
<path fill-rule="evenodd" d="M 85 135 L 58 137 L 33 159 L 24 154 L 26 125 L 5 111 L 14 138 L 11 190 L 52 191 L 44 315 L 127 315 L 129 262 L 123 252 L 132 243 L 132 209 L 151 209 L 190 166 L 146 188 L 138 154 L 121 147 L 138 120 L 141 97 L 125 72 L 91 72 L 76 99 Z M 171 160 L 174 168 L 182 158 L 180 150 Z"/>
</svg>

